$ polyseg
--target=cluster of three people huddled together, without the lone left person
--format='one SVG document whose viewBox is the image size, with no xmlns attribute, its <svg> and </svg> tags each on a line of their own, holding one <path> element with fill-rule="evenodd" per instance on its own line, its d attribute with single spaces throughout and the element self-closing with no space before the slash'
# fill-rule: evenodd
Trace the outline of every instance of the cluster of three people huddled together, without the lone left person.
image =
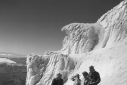
<svg viewBox="0 0 127 85">
<path fill-rule="evenodd" d="M 82 72 L 83 79 L 80 79 L 80 75 L 76 74 L 72 77 L 72 81 L 74 81 L 74 85 L 97 85 L 100 81 L 100 74 L 95 71 L 93 66 L 89 67 L 89 73 L 84 71 Z"/>
</svg>

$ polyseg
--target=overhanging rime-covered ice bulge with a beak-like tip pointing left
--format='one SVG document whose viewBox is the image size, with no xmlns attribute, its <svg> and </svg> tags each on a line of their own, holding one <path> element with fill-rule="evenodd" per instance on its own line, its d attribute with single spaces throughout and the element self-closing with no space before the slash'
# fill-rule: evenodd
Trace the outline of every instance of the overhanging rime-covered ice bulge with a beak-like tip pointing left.
<svg viewBox="0 0 127 85">
<path fill-rule="evenodd" d="M 62 51 L 79 54 L 92 51 L 102 43 L 104 28 L 100 24 L 72 23 L 62 28 L 68 36 L 63 40 Z"/>
</svg>

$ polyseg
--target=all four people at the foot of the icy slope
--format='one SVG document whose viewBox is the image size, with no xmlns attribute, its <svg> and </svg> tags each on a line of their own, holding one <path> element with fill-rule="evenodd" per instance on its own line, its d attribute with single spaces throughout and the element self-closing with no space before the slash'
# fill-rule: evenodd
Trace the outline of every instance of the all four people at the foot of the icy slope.
<svg viewBox="0 0 127 85">
<path fill-rule="evenodd" d="M 89 67 L 89 73 L 84 71 L 82 72 L 83 79 L 80 79 L 80 75 L 76 74 L 71 78 L 74 82 L 74 85 L 98 85 L 101 81 L 100 74 L 94 69 L 94 66 Z M 53 79 L 51 85 L 63 85 L 62 74 L 58 73 L 57 77 Z"/>
</svg>

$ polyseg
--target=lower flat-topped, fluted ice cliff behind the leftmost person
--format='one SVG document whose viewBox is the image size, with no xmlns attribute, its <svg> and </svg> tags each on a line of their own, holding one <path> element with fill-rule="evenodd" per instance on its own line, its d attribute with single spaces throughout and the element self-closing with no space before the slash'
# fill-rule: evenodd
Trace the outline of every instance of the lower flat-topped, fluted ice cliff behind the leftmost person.
<svg viewBox="0 0 127 85">
<path fill-rule="evenodd" d="M 27 83 L 26 85 L 50 84 L 58 72 L 63 73 L 64 81 L 67 75 L 74 70 L 75 63 L 68 55 L 49 52 L 44 56 L 30 54 L 27 57 Z"/>
</svg>

